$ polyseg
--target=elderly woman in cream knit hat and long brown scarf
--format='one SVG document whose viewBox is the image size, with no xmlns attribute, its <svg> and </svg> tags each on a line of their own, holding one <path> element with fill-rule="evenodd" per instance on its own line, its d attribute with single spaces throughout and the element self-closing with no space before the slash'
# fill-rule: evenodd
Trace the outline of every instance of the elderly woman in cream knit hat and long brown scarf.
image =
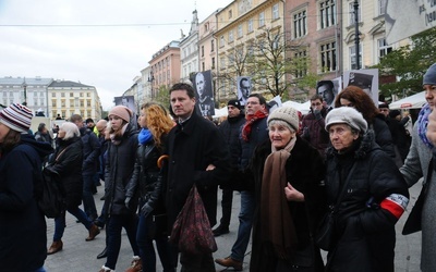
<svg viewBox="0 0 436 272">
<path fill-rule="evenodd" d="M 300 138 L 299 114 L 268 116 L 269 139 L 254 152 L 256 213 L 250 271 L 324 271 L 312 236 L 324 207 L 324 160 Z"/>
</svg>

